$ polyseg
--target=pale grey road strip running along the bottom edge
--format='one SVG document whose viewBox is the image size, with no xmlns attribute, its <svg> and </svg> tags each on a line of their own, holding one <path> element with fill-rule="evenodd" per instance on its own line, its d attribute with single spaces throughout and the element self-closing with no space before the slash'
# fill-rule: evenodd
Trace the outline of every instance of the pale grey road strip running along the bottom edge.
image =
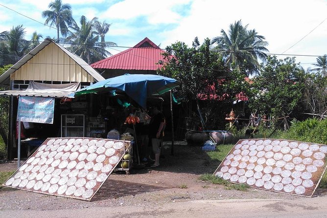
<svg viewBox="0 0 327 218">
<path fill-rule="evenodd" d="M 2 218 L 325 218 L 327 197 L 170 202 L 161 206 L 113 206 L 63 210 L 6 210 Z"/>
</svg>

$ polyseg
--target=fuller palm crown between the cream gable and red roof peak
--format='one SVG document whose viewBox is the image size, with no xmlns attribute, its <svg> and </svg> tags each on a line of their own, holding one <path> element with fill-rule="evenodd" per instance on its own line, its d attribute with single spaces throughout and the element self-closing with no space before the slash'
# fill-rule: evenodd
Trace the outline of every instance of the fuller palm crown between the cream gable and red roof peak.
<svg viewBox="0 0 327 218">
<path fill-rule="evenodd" d="M 81 57 L 88 64 L 100 61 L 110 55 L 105 46 L 117 45 L 112 42 L 99 42 L 100 38 L 95 30 L 97 18 L 87 21 L 85 16 L 81 16 L 80 27 L 78 25 L 70 27 L 70 36 L 66 41 L 72 44 L 68 49 Z"/>
</svg>

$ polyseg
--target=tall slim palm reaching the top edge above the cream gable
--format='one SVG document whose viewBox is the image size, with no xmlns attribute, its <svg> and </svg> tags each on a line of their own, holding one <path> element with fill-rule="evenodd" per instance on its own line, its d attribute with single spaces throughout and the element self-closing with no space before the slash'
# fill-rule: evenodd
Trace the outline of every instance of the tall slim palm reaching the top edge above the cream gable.
<svg viewBox="0 0 327 218">
<path fill-rule="evenodd" d="M 62 36 L 68 34 L 68 27 L 76 22 L 72 18 L 71 7 L 69 4 L 63 4 L 61 0 L 51 1 L 48 5 L 50 10 L 42 12 L 42 17 L 47 18 L 44 23 L 57 28 L 57 40 L 59 41 L 59 30 Z"/>
</svg>

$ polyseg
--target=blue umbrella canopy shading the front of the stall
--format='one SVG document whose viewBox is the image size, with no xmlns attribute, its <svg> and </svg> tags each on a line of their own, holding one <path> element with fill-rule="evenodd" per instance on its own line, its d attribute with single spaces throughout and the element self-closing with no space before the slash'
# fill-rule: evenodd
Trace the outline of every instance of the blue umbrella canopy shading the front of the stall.
<svg viewBox="0 0 327 218">
<path fill-rule="evenodd" d="M 142 108 L 146 108 L 146 98 L 161 95 L 180 85 L 175 79 L 153 74 L 124 74 L 97 82 L 75 91 L 75 96 L 118 89 L 125 92 Z"/>
</svg>

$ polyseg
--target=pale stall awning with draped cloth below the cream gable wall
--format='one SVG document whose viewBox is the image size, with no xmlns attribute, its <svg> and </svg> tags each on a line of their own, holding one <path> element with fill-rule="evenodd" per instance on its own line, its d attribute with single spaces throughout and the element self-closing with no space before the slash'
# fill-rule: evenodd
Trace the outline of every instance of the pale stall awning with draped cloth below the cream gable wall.
<svg viewBox="0 0 327 218">
<path fill-rule="evenodd" d="M 0 96 L 36 96 L 52 98 L 73 98 L 74 91 L 80 89 L 80 83 L 69 84 L 44 84 L 29 82 L 25 90 L 0 91 Z"/>
</svg>

